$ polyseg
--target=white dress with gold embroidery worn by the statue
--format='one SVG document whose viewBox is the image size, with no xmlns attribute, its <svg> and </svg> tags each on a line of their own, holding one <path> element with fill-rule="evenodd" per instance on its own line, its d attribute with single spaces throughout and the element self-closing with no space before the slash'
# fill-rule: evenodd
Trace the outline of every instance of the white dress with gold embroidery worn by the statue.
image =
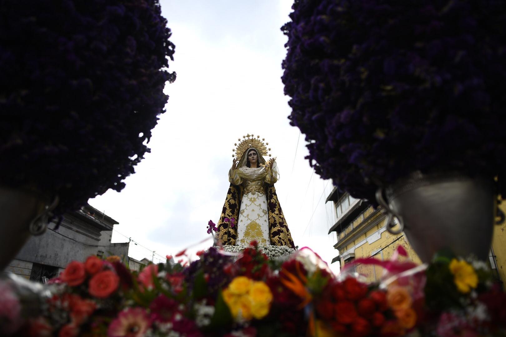
<svg viewBox="0 0 506 337">
<path fill-rule="evenodd" d="M 229 181 L 243 186 L 236 245 L 247 246 L 252 240 L 257 240 L 261 246 L 270 245 L 269 212 L 264 183 L 273 184 L 278 178 L 276 162 L 272 170 L 267 165 L 259 168 L 243 166 L 229 171 Z"/>
</svg>

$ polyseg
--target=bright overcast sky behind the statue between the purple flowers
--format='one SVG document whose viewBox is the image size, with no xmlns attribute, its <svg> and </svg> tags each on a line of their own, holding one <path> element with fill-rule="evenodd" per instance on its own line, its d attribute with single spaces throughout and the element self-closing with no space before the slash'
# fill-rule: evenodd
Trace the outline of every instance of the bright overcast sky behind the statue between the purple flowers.
<svg viewBox="0 0 506 337">
<path fill-rule="evenodd" d="M 327 234 L 335 219 L 332 203 L 325 205 L 332 184 L 313 174 L 304 159 L 304 135 L 289 125 L 280 79 L 286 42 L 280 27 L 289 20 L 292 1 L 160 3 L 176 44 L 170 70 L 177 79 L 165 86 L 166 112 L 153 130 L 151 153 L 126 178 L 126 187 L 90 204 L 117 220 L 119 233 L 163 257 L 175 254 L 210 237 L 207 221 L 219 219 L 234 142 L 258 134 L 277 157 L 276 191 L 295 244 L 330 263 L 338 255 L 335 234 Z M 128 241 L 118 232 L 112 242 Z M 150 251 L 131 244 L 130 256 L 151 259 Z"/>
</svg>

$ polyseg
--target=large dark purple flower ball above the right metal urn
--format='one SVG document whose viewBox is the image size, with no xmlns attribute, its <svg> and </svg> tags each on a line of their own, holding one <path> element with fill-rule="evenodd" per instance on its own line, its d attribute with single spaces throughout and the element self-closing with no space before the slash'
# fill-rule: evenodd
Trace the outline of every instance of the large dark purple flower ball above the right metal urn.
<svg viewBox="0 0 506 337">
<path fill-rule="evenodd" d="M 373 201 L 378 186 L 413 171 L 458 171 L 496 177 L 506 195 L 506 2 L 292 9 L 282 81 L 322 178 Z"/>
</svg>

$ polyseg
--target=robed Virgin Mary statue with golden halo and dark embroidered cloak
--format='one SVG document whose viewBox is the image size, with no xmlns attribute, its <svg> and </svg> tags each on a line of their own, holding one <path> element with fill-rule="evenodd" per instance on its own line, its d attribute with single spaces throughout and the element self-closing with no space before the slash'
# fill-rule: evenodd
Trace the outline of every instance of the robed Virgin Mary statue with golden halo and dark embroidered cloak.
<svg viewBox="0 0 506 337">
<path fill-rule="evenodd" d="M 228 172 L 230 187 L 218 221 L 218 238 L 223 245 L 247 246 L 256 240 L 261 246 L 294 249 L 274 187 L 279 179 L 277 163 L 264 159 L 271 150 L 266 146 L 269 143 L 250 134 L 238 140 Z M 229 220 L 232 218 L 235 224 Z"/>
</svg>

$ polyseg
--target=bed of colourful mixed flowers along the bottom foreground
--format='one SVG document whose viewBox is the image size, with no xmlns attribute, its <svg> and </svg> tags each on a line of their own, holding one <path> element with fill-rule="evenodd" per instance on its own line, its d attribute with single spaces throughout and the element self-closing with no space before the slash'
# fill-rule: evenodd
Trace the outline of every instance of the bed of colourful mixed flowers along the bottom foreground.
<svg viewBox="0 0 506 337">
<path fill-rule="evenodd" d="M 358 259 L 356 263 L 385 269 L 381 281 L 365 283 L 350 270 L 333 275 L 308 248 L 286 261 L 269 260 L 256 243 L 237 259 L 213 247 L 199 255 L 186 267 L 167 259 L 140 272 L 114 257 L 103 261 L 92 256 L 85 263 L 71 262 L 51 284 L 37 285 L 37 296 L 31 297 L 22 283 L 3 280 L 1 332 L 110 337 L 506 335 L 506 294 L 493 285 L 490 270 L 473 259 L 440 254 L 420 266 Z"/>
</svg>

